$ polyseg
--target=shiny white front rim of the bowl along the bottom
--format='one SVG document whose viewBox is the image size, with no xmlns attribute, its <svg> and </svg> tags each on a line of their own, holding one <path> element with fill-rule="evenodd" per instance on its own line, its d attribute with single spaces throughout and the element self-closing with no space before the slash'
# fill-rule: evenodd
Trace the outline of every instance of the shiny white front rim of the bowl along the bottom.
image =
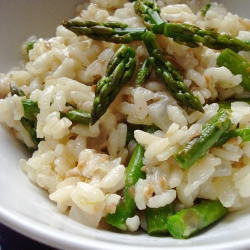
<svg viewBox="0 0 250 250">
<path fill-rule="evenodd" d="M 73 235 L 69 232 L 64 232 L 58 230 L 56 228 L 45 225 L 39 221 L 35 221 L 19 212 L 9 210 L 0 204 L 0 221 L 5 226 L 13 229 L 14 231 L 27 236 L 35 241 L 38 241 L 42 244 L 60 248 L 60 249 L 72 249 L 72 250 L 83 250 L 83 249 L 92 249 L 92 250 L 125 250 L 130 247 L 133 247 L 134 250 L 152 250 L 152 249 L 168 249 L 168 250 L 235 250 L 235 249 L 249 249 L 250 247 L 250 237 L 240 240 L 231 240 L 225 244 L 225 242 L 221 243 L 213 243 L 206 245 L 182 245 L 181 242 L 189 243 L 192 242 L 192 239 L 185 240 L 176 240 L 176 246 L 164 246 L 164 245 L 156 245 L 152 246 L 143 246 L 143 245 L 133 245 L 130 242 L 126 242 L 126 245 L 122 244 L 119 241 L 112 240 L 112 237 L 115 236 L 116 233 L 113 232 L 105 232 L 103 237 L 100 239 L 98 235 L 100 233 L 99 229 L 86 228 L 86 235 L 79 236 Z M 89 232 L 87 232 L 89 231 Z M 91 236 L 91 237 L 88 237 Z M 94 237 L 93 237 L 94 236 Z M 108 238 L 106 238 L 106 236 Z M 129 239 L 130 236 L 127 237 Z M 134 237 L 134 236 L 132 236 Z M 106 239 L 105 239 L 106 238 Z M 167 238 L 169 239 L 169 238 Z M 73 243 L 73 245 L 72 245 Z"/>
</svg>

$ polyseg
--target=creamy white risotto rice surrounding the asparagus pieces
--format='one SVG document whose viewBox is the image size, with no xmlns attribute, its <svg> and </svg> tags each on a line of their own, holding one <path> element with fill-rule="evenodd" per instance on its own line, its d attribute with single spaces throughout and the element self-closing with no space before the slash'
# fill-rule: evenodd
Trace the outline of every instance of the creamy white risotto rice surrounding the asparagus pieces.
<svg viewBox="0 0 250 250">
<path fill-rule="evenodd" d="M 222 4 L 205 0 L 157 3 L 162 19 L 170 23 L 250 40 L 250 21 L 228 12 Z M 126 0 L 90 0 L 77 7 L 77 14 L 80 21 L 144 27 L 134 2 Z M 217 65 L 222 50 L 203 45 L 191 48 L 163 35 L 157 35 L 157 42 L 181 69 L 184 84 L 198 98 L 203 112 L 176 101 L 152 71 L 140 86 L 133 74 L 96 123 L 82 124 L 63 116 L 72 107 L 91 113 L 96 84 L 121 44 L 77 36 L 62 25 L 50 39 L 28 38 L 22 45 L 20 65 L 0 74 L 0 122 L 32 150 L 29 159 L 20 160 L 22 170 L 48 191 L 58 211 L 84 225 L 97 228 L 116 212 L 127 185 L 126 169 L 138 144 L 145 150 L 141 168 L 145 176 L 130 187 L 136 211 L 126 218 L 126 230 L 147 231 L 147 208 L 172 204 L 177 213 L 200 200 L 218 200 L 224 208 L 236 211 L 250 204 L 250 141 L 237 136 L 212 146 L 188 169 L 175 157 L 186 143 L 201 135 L 225 100 L 235 100 L 230 109 L 231 128 L 248 127 L 250 106 L 242 100 L 250 93 L 241 84 L 242 75 Z M 128 46 L 136 53 L 137 72 L 148 51 L 142 41 Z M 238 54 L 250 61 L 250 52 Z M 11 93 L 10 85 L 23 95 Z M 37 144 L 22 120 L 23 100 L 27 99 L 37 104 L 31 119 Z M 151 125 L 157 127 L 153 133 L 143 129 Z"/>
</svg>

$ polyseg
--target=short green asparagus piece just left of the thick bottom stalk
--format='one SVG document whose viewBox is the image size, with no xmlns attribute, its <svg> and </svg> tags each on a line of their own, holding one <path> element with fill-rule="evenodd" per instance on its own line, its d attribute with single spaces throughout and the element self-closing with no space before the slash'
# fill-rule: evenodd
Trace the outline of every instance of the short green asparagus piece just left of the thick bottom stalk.
<svg viewBox="0 0 250 250">
<path fill-rule="evenodd" d="M 174 214 L 174 203 L 159 208 L 146 208 L 147 231 L 149 235 L 168 233 L 167 219 Z"/>
</svg>

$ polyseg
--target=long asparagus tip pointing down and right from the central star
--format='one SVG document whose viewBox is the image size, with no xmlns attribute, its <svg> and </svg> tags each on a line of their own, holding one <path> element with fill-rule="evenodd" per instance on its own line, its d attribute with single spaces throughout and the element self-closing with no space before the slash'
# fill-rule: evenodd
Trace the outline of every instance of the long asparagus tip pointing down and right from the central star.
<svg viewBox="0 0 250 250">
<path fill-rule="evenodd" d="M 152 32 L 143 35 L 143 42 L 149 53 L 149 62 L 155 69 L 157 76 L 165 83 L 171 95 L 182 105 L 203 111 L 199 99 L 183 82 L 183 76 L 175 69 L 170 61 L 164 58 L 163 51 Z"/>
</svg>

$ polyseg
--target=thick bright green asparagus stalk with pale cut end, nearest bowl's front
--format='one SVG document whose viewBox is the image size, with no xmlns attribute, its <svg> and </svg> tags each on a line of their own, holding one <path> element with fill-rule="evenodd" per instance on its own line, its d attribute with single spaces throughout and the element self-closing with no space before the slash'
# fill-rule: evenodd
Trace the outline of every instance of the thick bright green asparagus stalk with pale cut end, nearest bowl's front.
<svg viewBox="0 0 250 250">
<path fill-rule="evenodd" d="M 184 239 L 221 219 L 227 213 L 228 208 L 219 200 L 204 200 L 169 216 L 167 227 L 174 238 Z"/>
</svg>

